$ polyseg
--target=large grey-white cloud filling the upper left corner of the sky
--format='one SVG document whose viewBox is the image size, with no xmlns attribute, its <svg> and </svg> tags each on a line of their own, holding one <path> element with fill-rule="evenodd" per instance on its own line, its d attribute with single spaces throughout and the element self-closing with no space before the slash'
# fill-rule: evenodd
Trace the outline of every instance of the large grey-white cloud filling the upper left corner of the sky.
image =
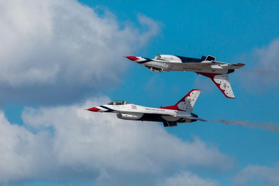
<svg viewBox="0 0 279 186">
<path fill-rule="evenodd" d="M 69 102 L 114 86 L 127 66 L 121 56 L 159 31 L 144 15 L 138 21 L 101 17 L 75 0 L 1 1 L 0 102 Z"/>
</svg>

